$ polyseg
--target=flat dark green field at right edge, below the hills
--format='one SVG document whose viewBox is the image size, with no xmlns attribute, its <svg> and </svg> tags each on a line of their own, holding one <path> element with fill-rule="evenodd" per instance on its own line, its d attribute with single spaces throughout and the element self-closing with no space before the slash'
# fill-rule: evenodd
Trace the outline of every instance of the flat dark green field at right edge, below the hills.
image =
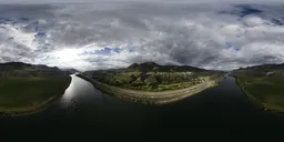
<svg viewBox="0 0 284 142">
<path fill-rule="evenodd" d="M 284 112 L 284 77 L 237 77 L 243 91 L 266 110 Z"/>
</svg>

